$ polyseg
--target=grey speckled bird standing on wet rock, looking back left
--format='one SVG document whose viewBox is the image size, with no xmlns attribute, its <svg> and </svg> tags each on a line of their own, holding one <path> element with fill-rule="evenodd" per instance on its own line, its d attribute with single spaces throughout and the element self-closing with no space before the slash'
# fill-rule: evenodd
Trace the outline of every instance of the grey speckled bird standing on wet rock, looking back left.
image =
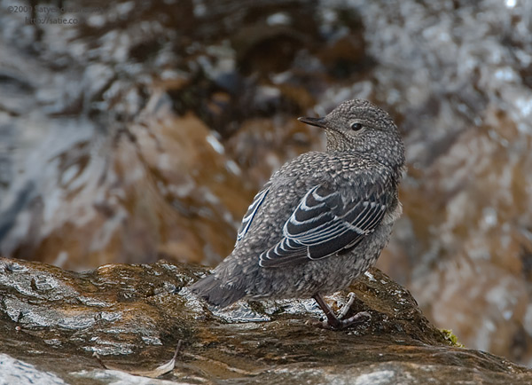
<svg viewBox="0 0 532 385">
<path fill-rule="evenodd" d="M 324 326 L 342 328 L 367 313 L 341 319 L 322 295 L 348 287 L 386 246 L 402 212 L 403 141 L 367 100 L 299 120 L 325 130 L 327 151 L 303 153 L 273 174 L 247 209 L 231 255 L 191 290 L 221 307 L 240 298 L 313 297 Z"/>
</svg>

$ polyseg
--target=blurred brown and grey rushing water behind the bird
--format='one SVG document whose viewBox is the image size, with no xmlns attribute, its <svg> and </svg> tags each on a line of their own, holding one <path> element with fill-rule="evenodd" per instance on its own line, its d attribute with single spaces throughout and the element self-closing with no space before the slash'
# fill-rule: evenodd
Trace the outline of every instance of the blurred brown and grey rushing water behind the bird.
<svg viewBox="0 0 532 385">
<path fill-rule="evenodd" d="M 295 118 L 368 98 L 409 164 L 379 268 L 532 366 L 531 1 L 0 4 L 1 255 L 214 266 L 271 172 L 324 148 Z"/>
</svg>

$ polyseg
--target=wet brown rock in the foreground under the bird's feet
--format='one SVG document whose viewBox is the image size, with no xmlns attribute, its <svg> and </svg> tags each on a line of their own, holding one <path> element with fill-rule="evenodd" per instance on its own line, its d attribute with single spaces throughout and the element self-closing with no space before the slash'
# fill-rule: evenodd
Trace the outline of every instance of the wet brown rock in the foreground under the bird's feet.
<svg viewBox="0 0 532 385">
<path fill-rule="evenodd" d="M 0 259 L 2 371 L 19 380 L 40 371 L 44 383 L 143 383 L 127 372 L 168 361 L 181 340 L 174 371 L 150 383 L 532 381 L 523 366 L 456 346 L 376 269 L 350 287 L 350 312 L 369 311 L 371 320 L 343 331 L 309 326 L 321 316 L 311 300 L 208 309 L 186 289 L 205 273 L 165 261 L 76 273 Z M 346 300 L 328 297 L 335 308 Z"/>
</svg>

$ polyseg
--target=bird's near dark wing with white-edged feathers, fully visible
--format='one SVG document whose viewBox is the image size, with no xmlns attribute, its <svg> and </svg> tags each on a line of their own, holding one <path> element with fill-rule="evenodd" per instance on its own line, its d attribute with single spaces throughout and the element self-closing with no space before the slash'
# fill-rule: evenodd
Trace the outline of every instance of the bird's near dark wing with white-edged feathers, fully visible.
<svg viewBox="0 0 532 385">
<path fill-rule="evenodd" d="M 385 180 L 358 176 L 348 193 L 315 185 L 283 228 L 283 238 L 260 255 L 262 267 L 325 258 L 354 248 L 375 231 L 393 199 Z"/>
</svg>

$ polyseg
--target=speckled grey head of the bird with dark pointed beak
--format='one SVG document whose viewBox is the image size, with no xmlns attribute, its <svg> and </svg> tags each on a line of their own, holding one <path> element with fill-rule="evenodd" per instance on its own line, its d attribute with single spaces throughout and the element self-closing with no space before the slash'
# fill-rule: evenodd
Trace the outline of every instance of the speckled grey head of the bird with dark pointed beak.
<svg viewBox="0 0 532 385">
<path fill-rule="evenodd" d="M 404 145 L 397 126 L 367 100 L 346 100 L 323 118 L 301 117 L 299 121 L 325 130 L 328 152 L 368 153 L 377 161 L 403 167 Z"/>
</svg>

